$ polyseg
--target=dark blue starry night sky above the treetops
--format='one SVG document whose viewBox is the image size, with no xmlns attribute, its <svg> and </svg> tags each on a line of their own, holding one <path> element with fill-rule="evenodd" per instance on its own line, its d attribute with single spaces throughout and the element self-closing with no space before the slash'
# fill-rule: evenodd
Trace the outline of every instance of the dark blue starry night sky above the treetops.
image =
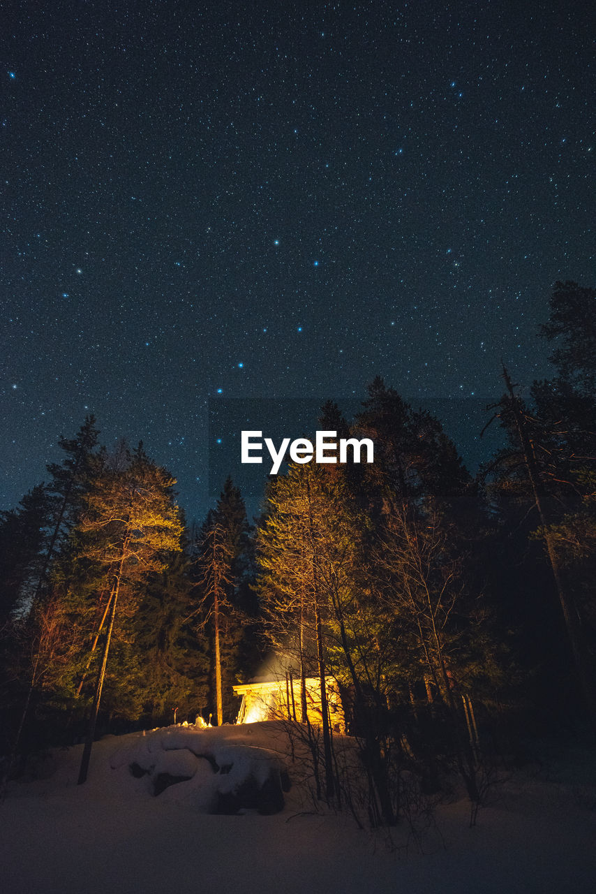
<svg viewBox="0 0 596 894">
<path fill-rule="evenodd" d="M 546 375 L 595 279 L 589 6 L 3 4 L 0 507 L 88 412 L 192 518 L 209 401 Z"/>
</svg>

